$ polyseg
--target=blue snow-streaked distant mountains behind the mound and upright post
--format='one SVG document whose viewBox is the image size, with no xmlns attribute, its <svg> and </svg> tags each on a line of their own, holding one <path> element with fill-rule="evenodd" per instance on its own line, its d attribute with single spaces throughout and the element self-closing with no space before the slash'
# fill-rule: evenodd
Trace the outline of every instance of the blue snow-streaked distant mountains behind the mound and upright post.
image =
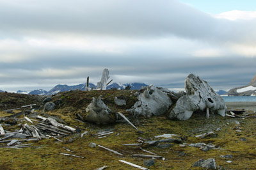
<svg viewBox="0 0 256 170">
<path fill-rule="evenodd" d="M 89 83 L 90 88 L 96 88 L 95 84 Z M 133 83 L 116 83 L 110 84 L 107 86 L 107 89 L 140 89 L 142 86 L 148 86 L 145 83 L 139 83 L 139 82 L 133 82 Z M 74 86 L 68 86 L 67 84 L 58 84 L 54 88 L 52 88 L 49 91 L 46 91 L 44 89 L 35 89 L 33 91 L 30 91 L 29 93 L 27 91 L 18 90 L 17 93 L 20 94 L 29 94 L 29 95 L 55 95 L 56 93 L 62 92 L 62 91 L 70 91 L 70 90 L 84 90 L 86 87 L 86 84 L 78 84 Z M 2 91 L 3 92 L 3 91 Z"/>
</svg>

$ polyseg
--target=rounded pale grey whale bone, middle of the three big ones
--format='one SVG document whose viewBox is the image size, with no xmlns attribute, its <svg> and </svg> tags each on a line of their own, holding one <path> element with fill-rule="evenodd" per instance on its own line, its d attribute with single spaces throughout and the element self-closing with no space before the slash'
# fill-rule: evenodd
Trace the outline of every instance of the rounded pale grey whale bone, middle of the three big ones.
<svg viewBox="0 0 256 170">
<path fill-rule="evenodd" d="M 140 89 L 143 93 L 138 96 L 138 101 L 128 111 L 132 112 L 133 116 L 153 116 L 161 115 L 168 111 L 172 100 L 163 91 L 150 85 Z"/>
</svg>

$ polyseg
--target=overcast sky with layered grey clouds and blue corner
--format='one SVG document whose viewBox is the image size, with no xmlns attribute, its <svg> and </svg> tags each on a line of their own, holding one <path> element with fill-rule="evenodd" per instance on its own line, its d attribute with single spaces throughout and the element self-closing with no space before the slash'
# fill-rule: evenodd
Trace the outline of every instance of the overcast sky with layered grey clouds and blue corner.
<svg viewBox="0 0 256 170">
<path fill-rule="evenodd" d="M 255 75 L 256 1 L 1 0 L 0 89 L 100 80 L 214 89 Z"/>
</svg>

